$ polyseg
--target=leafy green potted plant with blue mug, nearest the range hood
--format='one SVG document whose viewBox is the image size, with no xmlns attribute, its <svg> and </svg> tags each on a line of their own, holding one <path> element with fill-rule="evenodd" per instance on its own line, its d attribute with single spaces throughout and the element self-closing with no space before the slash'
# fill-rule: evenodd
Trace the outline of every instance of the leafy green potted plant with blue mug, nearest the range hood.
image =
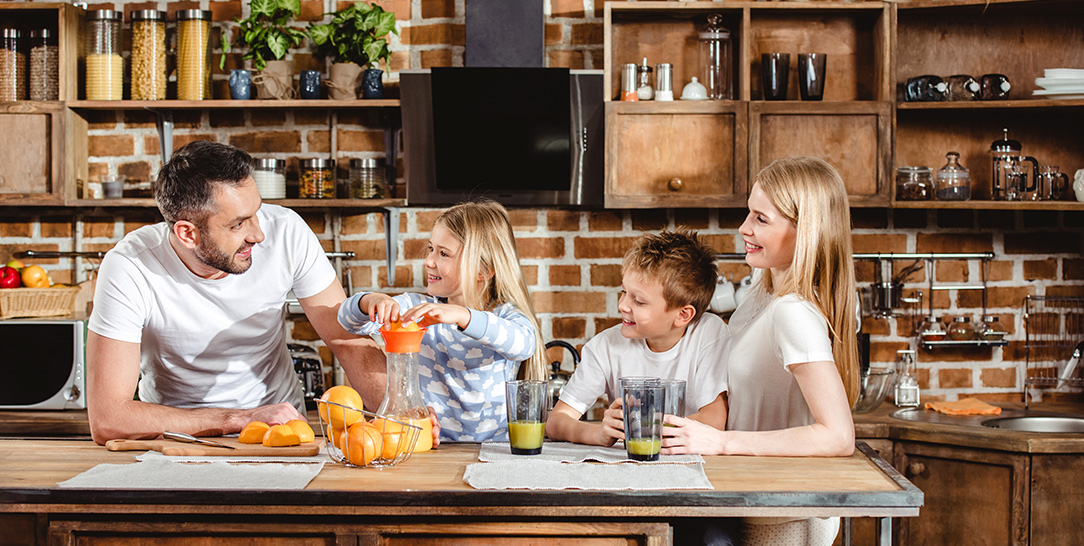
<svg viewBox="0 0 1084 546">
<path fill-rule="evenodd" d="M 384 11 L 376 3 L 354 2 L 331 13 L 331 23 L 309 25 L 309 37 L 317 44 L 317 52 L 332 60 L 327 89 L 332 99 L 358 96 L 358 75 L 366 64 L 363 96 L 380 99 L 384 84 L 379 62 L 391 56 L 388 32 L 399 35 L 396 15 Z"/>
</svg>

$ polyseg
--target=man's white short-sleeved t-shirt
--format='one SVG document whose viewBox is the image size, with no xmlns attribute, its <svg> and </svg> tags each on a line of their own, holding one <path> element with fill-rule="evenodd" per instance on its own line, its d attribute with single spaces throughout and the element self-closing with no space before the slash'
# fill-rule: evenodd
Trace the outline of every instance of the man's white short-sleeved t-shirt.
<svg viewBox="0 0 1084 546">
<path fill-rule="evenodd" d="M 248 408 L 304 392 L 286 348 L 285 309 L 335 282 L 312 230 L 291 209 L 262 205 L 264 240 L 242 274 L 207 280 L 169 244 L 166 222 L 129 233 L 102 260 L 89 328 L 140 343 L 139 398 L 175 407 Z"/>
</svg>

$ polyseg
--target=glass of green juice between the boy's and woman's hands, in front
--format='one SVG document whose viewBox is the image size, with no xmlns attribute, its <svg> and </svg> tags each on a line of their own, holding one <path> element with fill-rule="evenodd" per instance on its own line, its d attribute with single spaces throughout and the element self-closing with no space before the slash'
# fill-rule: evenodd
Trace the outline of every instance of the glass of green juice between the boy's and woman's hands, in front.
<svg viewBox="0 0 1084 546">
<path fill-rule="evenodd" d="M 658 460 L 666 387 L 656 380 L 625 384 L 621 390 L 625 453 L 632 460 Z"/>
</svg>

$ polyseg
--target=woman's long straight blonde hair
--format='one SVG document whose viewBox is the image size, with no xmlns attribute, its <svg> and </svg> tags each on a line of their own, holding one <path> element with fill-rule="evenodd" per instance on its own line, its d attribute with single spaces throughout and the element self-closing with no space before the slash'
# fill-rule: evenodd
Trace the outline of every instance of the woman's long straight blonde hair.
<svg viewBox="0 0 1084 546">
<path fill-rule="evenodd" d="M 857 318 L 851 207 L 843 179 L 823 159 L 787 157 L 764 167 L 757 183 L 797 229 L 795 259 L 787 277 L 773 280 L 771 270 L 765 270 L 763 286 L 776 296 L 796 294 L 828 318 L 836 368 L 853 406 L 859 395 Z"/>
</svg>

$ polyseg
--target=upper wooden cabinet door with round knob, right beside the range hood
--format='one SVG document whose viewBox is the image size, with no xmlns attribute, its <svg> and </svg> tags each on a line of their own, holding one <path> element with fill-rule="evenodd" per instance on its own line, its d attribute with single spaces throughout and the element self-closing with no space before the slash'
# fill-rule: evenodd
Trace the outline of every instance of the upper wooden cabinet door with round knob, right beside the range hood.
<svg viewBox="0 0 1084 546">
<path fill-rule="evenodd" d="M 606 103 L 606 207 L 743 207 L 745 103 Z"/>
</svg>

